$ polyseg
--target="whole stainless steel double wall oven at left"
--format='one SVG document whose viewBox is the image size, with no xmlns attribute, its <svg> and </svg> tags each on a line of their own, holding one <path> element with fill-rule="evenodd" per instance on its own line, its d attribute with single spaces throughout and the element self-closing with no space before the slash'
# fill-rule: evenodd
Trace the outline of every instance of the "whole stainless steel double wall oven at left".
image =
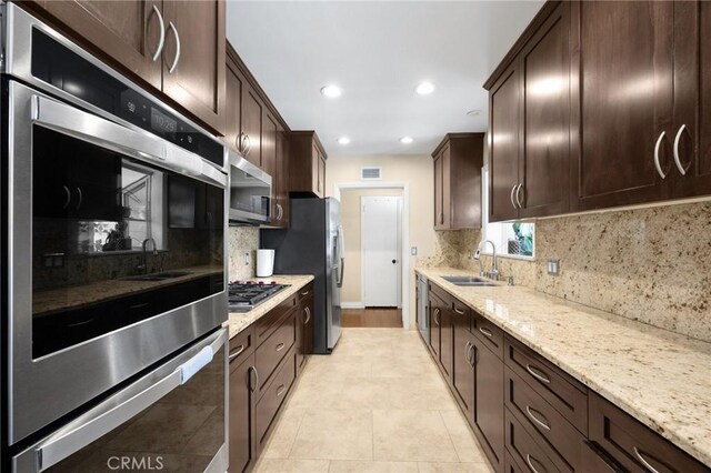
<svg viewBox="0 0 711 473">
<path fill-rule="evenodd" d="M 1 8 L 0 470 L 224 471 L 224 148 Z"/>
</svg>

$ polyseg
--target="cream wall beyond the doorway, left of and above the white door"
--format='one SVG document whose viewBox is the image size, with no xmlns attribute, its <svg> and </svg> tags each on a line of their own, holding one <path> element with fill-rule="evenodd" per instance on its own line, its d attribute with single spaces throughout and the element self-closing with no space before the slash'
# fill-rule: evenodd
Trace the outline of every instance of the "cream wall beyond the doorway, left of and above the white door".
<svg viewBox="0 0 711 473">
<path fill-rule="evenodd" d="M 402 195 L 402 189 L 348 189 L 341 191 L 341 222 L 346 241 L 346 272 L 341 300 L 362 305 L 361 288 L 361 211 L 362 197 Z"/>
</svg>

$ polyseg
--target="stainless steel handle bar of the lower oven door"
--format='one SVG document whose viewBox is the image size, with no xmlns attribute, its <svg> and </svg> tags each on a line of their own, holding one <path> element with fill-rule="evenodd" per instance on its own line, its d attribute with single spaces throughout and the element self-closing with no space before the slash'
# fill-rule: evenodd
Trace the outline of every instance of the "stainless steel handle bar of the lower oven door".
<svg viewBox="0 0 711 473">
<path fill-rule="evenodd" d="M 107 409 L 107 404 L 111 404 L 111 399 L 109 399 L 78 419 L 76 424 L 68 425 L 67 429 L 34 446 L 38 471 L 41 472 L 56 465 L 91 442 L 97 441 L 187 382 L 190 376 L 204 368 L 226 344 L 227 333 L 227 330 L 222 329 L 206 339 L 200 345 L 191 349 L 191 356 L 187 361 L 173 360 L 169 362 L 169 364 L 173 362 L 179 364 L 170 374 L 150 386 L 146 389 L 139 388 L 138 392 L 131 392 L 132 389 L 136 390 L 133 386 L 121 391 L 117 395 L 122 394 L 123 397 L 128 397 L 124 402 L 114 406 L 110 405 Z M 197 354 L 194 354 L 196 350 L 198 351 Z M 209 360 L 206 362 L 208 356 Z"/>
</svg>

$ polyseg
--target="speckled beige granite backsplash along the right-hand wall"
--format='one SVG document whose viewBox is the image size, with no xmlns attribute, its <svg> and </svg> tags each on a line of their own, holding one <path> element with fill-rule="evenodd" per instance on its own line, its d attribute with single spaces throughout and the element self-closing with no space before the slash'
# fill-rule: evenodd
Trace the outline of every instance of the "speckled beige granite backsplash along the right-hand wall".
<svg viewBox="0 0 711 473">
<path fill-rule="evenodd" d="M 558 298 L 711 342 L 711 203 L 535 222 L 535 261 L 500 259 L 503 276 Z M 422 265 L 479 272 L 479 230 L 437 232 Z M 547 272 L 561 260 L 560 275 Z M 487 268 L 491 258 L 483 256 Z M 612 334 L 611 334 L 612 335 Z"/>
</svg>

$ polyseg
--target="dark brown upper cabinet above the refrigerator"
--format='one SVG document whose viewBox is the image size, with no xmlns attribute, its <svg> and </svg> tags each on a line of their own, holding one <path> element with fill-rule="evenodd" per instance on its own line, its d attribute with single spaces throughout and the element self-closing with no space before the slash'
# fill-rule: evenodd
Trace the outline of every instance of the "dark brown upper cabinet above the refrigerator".
<svg viewBox="0 0 711 473">
<path fill-rule="evenodd" d="M 326 197 L 326 160 L 316 131 L 292 131 L 289 154 L 289 190 L 296 195 Z"/>
</svg>

